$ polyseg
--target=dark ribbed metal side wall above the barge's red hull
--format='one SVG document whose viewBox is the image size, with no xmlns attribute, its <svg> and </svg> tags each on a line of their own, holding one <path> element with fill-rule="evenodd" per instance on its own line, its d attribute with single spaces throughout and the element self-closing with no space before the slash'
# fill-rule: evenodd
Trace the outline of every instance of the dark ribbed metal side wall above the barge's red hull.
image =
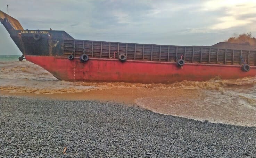
<svg viewBox="0 0 256 158">
<path fill-rule="evenodd" d="M 115 52 L 117 54 L 115 54 Z M 90 58 L 118 58 L 127 60 L 176 62 L 183 56 L 186 63 L 240 65 L 243 61 L 256 65 L 256 50 L 233 50 L 207 46 L 173 46 L 117 43 L 84 40 L 64 40 L 64 54 L 87 54 Z"/>
</svg>

